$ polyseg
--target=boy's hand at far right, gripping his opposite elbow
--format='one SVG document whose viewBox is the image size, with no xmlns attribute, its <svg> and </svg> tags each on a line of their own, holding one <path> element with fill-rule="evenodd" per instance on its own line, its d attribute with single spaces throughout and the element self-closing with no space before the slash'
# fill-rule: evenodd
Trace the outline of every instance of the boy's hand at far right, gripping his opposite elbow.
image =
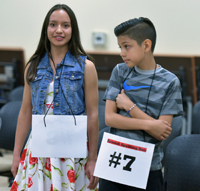
<svg viewBox="0 0 200 191">
<path fill-rule="evenodd" d="M 149 120 L 146 132 L 158 140 L 165 140 L 171 134 L 172 128 L 167 121 Z"/>
</svg>

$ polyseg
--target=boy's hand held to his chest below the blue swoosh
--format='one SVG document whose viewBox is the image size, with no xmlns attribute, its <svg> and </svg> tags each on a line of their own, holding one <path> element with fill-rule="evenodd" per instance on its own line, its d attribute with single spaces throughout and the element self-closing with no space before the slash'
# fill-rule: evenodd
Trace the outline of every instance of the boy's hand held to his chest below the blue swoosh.
<svg viewBox="0 0 200 191">
<path fill-rule="evenodd" d="M 118 94 L 118 96 L 116 98 L 116 104 L 119 109 L 126 110 L 126 108 L 130 108 L 133 105 L 133 102 L 125 94 L 124 89 L 122 89 L 121 93 Z"/>
</svg>

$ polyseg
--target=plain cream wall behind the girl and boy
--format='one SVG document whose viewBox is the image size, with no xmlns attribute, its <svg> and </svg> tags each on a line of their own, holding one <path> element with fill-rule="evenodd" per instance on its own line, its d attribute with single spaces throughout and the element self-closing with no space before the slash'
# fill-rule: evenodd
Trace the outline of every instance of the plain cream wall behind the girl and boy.
<svg viewBox="0 0 200 191">
<path fill-rule="evenodd" d="M 20 47 L 25 60 L 34 53 L 47 11 L 57 3 L 75 12 L 84 48 L 95 51 L 92 32 L 107 33 L 104 51 L 118 52 L 114 27 L 130 18 L 148 17 L 156 26 L 156 54 L 200 54 L 198 0 L 0 0 L 0 47 Z"/>
</svg>

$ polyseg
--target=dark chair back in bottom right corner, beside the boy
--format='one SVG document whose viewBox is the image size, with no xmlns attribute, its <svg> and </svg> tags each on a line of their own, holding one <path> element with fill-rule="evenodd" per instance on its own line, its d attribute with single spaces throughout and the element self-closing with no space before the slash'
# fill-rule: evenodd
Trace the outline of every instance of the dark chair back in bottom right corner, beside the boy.
<svg viewBox="0 0 200 191">
<path fill-rule="evenodd" d="M 164 190 L 200 190 L 200 135 L 176 137 L 165 154 Z"/>
</svg>

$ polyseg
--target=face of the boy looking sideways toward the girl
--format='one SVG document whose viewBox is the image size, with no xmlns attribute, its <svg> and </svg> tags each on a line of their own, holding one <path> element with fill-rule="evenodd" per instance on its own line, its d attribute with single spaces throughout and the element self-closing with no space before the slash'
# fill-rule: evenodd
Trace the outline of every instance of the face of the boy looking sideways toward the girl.
<svg viewBox="0 0 200 191">
<path fill-rule="evenodd" d="M 143 62 L 145 57 L 145 47 L 143 43 L 138 45 L 137 41 L 122 35 L 119 36 L 117 40 L 121 49 L 120 56 L 129 68 L 134 66 L 140 68 L 145 64 Z"/>
</svg>

